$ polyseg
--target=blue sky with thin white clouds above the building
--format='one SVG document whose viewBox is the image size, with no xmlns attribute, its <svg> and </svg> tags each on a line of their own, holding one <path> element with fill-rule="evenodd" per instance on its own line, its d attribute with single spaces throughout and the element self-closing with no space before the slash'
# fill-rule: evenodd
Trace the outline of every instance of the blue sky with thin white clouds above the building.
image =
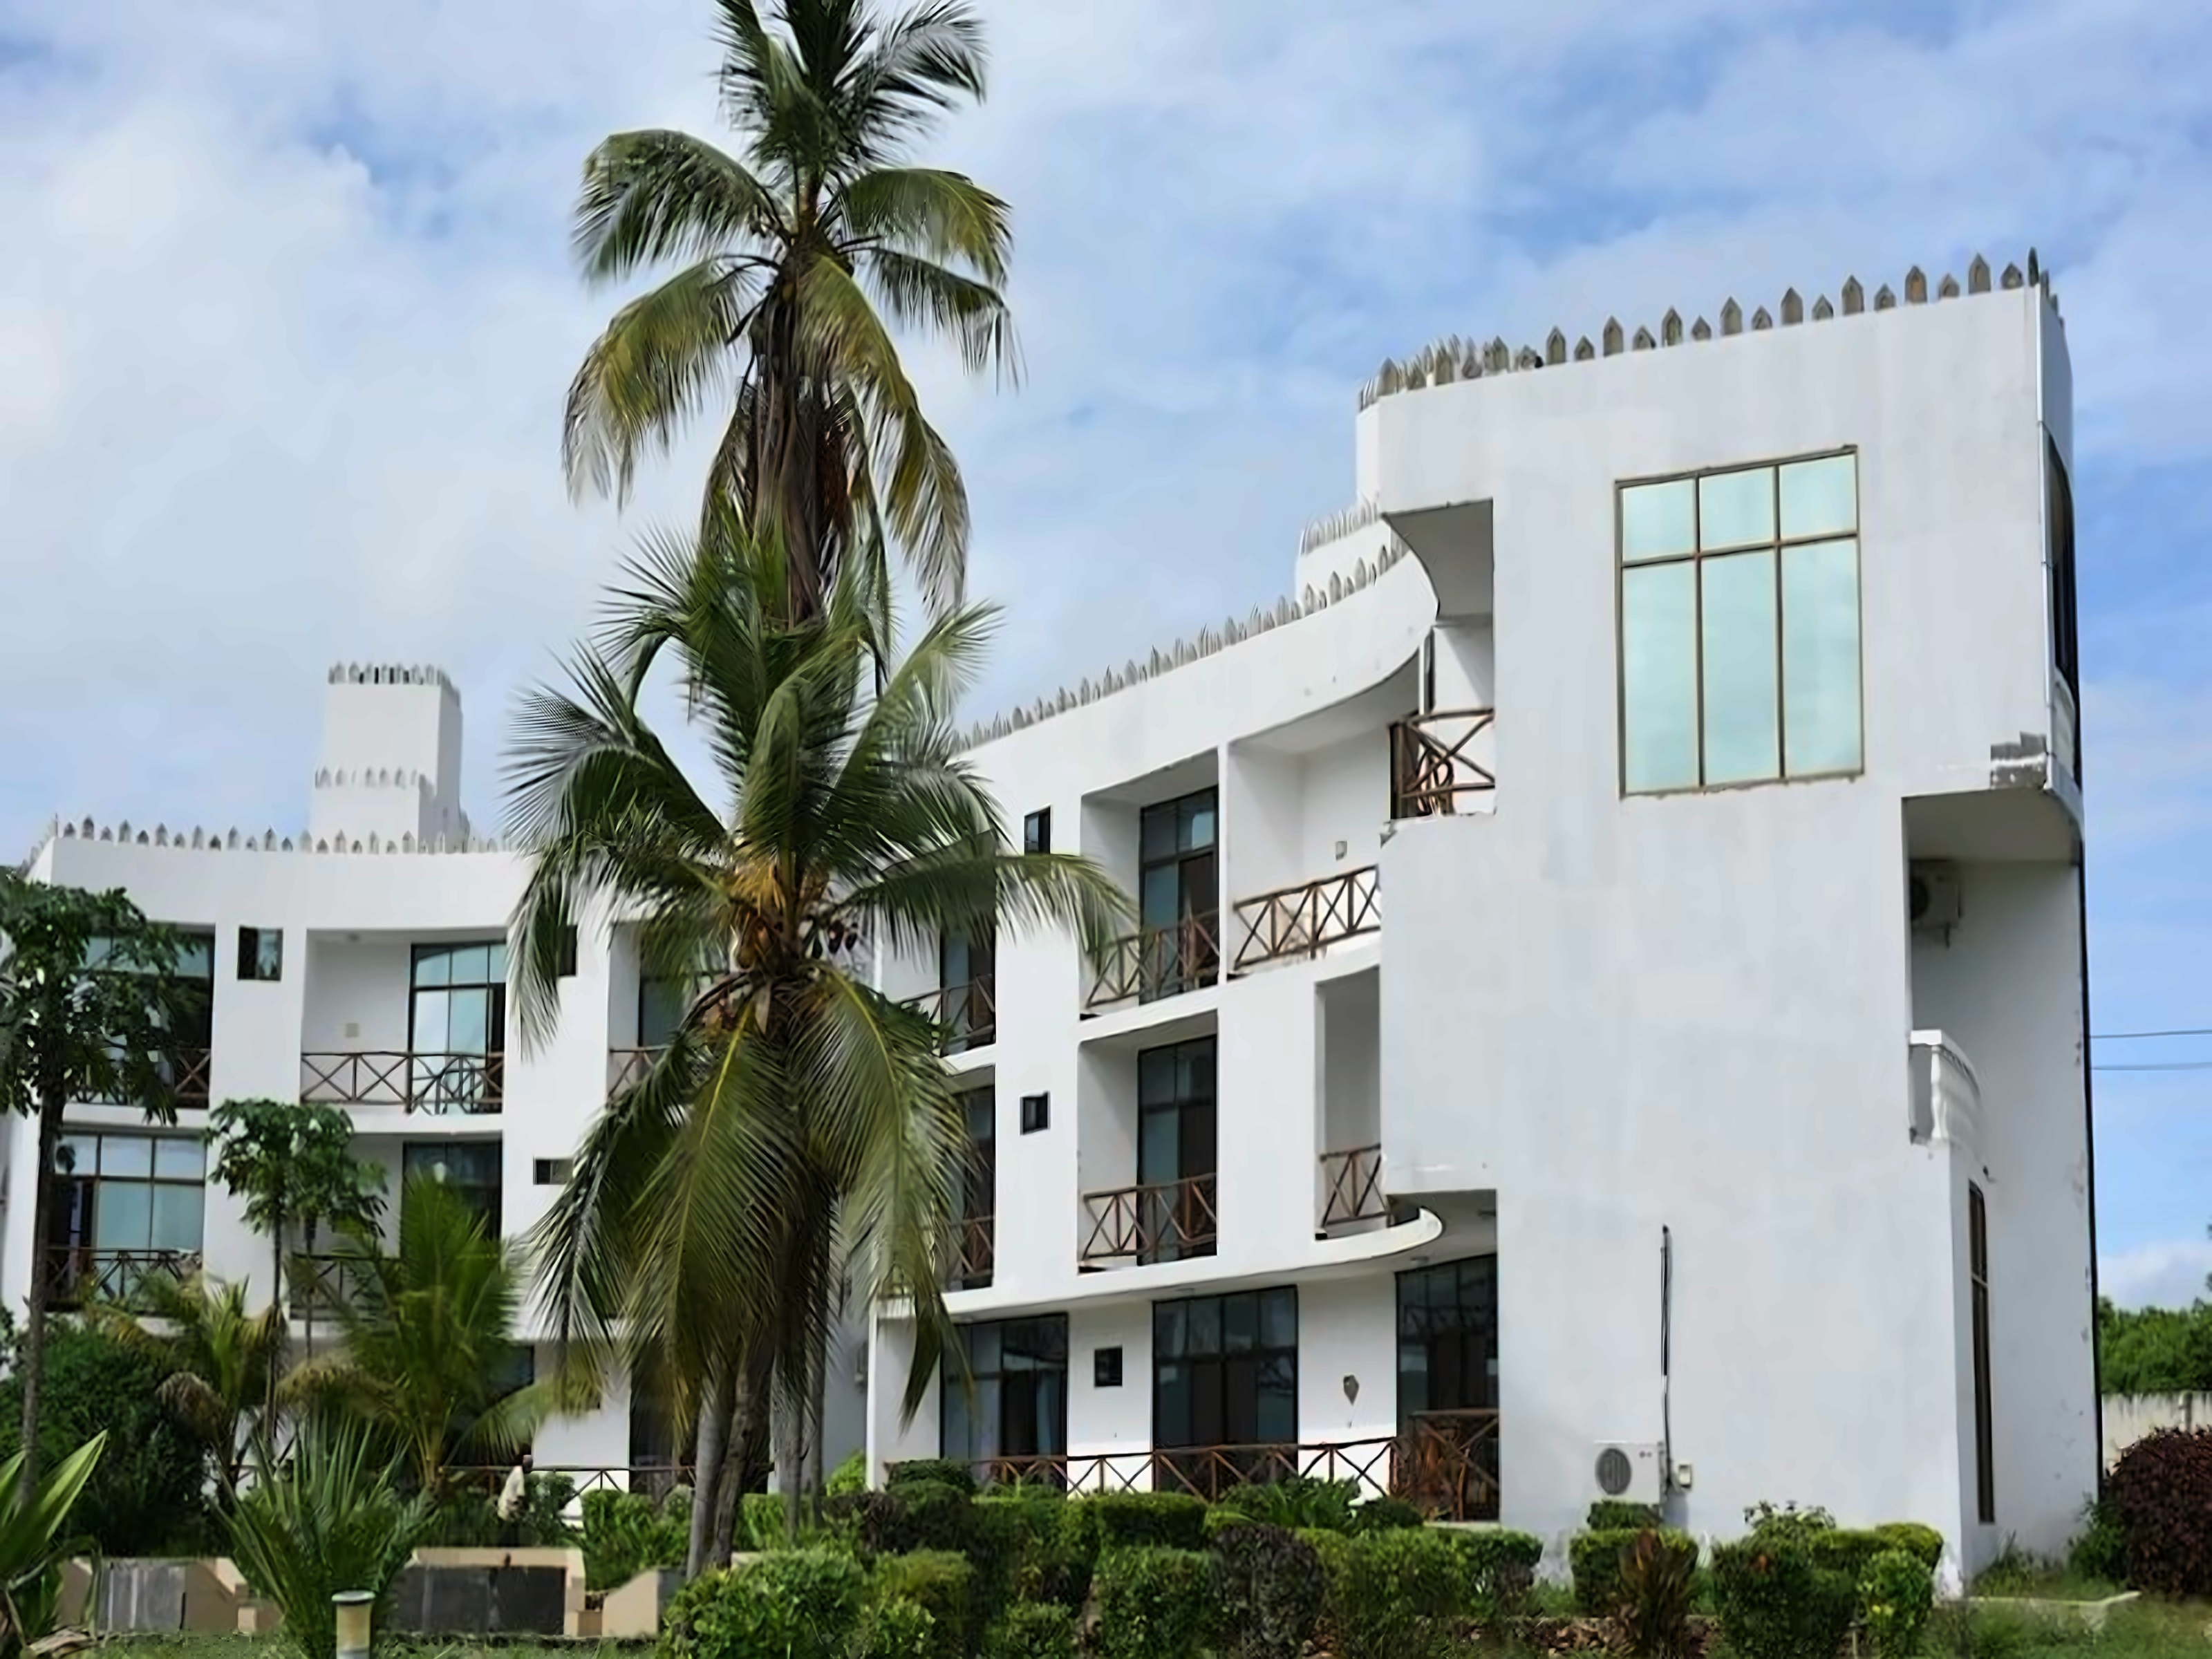
<svg viewBox="0 0 2212 1659">
<path fill-rule="evenodd" d="M 2212 11 L 2179 0 L 987 0 L 936 155 L 1015 204 L 1029 378 L 920 374 L 1006 604 L 978 708 L 1272 597 L 1354 387 L 1442 332 L 1745 310 L 2035 243 L 2077 385 L 2097 1026 L 2212 1026 Z M 566 263 L 706 0 L 0 0 L 0 849 L 294 827 L 341 657 L 509 699 L 630 522 L 573 507 Z M 2108 1062 L 2212 1062 L 2212 1040 Z M 2212 1071 L 2101 1073 L 2106 1283 L 2212 1270 Z"/>
</svg>

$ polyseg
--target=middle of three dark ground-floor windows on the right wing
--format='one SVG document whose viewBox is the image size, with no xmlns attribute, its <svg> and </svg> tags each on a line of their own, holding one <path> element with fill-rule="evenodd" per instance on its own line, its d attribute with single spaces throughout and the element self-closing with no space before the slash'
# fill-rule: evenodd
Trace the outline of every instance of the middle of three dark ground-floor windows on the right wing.
<svg viewBox="0 0 2212 1659">
<path fill-rule="evenodd" d="M 1152 1303 L 1152 1444 L 1298 1440 L 1298 1292 Z"/>
</svg>

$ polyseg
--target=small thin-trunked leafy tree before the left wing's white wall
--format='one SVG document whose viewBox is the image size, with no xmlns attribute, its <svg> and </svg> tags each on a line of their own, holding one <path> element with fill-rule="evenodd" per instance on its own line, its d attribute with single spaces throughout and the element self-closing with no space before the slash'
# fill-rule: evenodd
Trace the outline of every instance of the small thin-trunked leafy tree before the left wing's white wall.
<svg viewBox="0 0 2212 1659">
<path fill-rule="evenodd" d="M 307 1254 L 327 1221 L 367 1232 L 385 1212 L 385 1172 L 354 1157 L 354 1119 L 336 1106 L 281 1099 L 226 1099 L 208 1119 L 215 1183 L 246 1201 L 246 1223 L 270 1237 L 270 1298 L 283 1305 L 285 1232 L 299 1228 Z M 314 1354 L 314 1298 L 307 1298 L 307 1352 Z"/>
</svg>

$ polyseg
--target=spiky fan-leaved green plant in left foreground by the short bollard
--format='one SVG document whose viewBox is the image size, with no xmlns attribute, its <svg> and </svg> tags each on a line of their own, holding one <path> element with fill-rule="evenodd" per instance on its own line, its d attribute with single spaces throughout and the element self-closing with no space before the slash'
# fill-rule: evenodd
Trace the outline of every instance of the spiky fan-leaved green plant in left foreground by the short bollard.
<svg viewBox="0 0 2212 1659">
<path fill-rule="evenodd" d="M 358 1425 L 314 1420 L 292 1462 L 263 1462 L 230 1513 L 230 1553 L 254 1595 L 283 1613 L 285 1641 L 305 1659 L 338 1650 L 338 1590 L 376 1597 L 372 1619 L 392 1610 L 392 1586 L 434 1524 L 429 1498 L 403 1498 L 394 1471 Z"/>
</svg>

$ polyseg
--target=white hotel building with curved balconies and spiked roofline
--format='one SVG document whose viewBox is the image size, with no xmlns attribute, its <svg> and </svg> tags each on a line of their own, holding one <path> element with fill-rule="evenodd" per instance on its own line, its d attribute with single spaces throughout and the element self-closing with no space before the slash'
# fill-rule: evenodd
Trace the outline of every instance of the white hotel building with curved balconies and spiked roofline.
<svg viewBox="0 0 2212 1659">
<path fill-rule="evenodd" d="M 878 1316 L 836 1371 L 874 1467 L 2057 1548 L 2097 1478 L 2070 409 L 2033 259 L 1385 365 L 1294 597 L 975 737 L 1009 825 L 1144 927 L 883 964 L 978 1159 L 973 1387 L 900 1425 Z M 440 677 L 336 675 L 312 849 L 64 825 L 35 867 L 210 933 L 215 1099 L 336 1099 L 515 1232 L 666 1015 L 584 938 L 557 1042 L 500 1057 L 522 867 L 420 854 L 476 845 L 456 757 Z M 102 1186 L 84 1243 L 186 1208 Z M 617 1400 L 540 1462 L 637 1444 Z"/>
</svg>

